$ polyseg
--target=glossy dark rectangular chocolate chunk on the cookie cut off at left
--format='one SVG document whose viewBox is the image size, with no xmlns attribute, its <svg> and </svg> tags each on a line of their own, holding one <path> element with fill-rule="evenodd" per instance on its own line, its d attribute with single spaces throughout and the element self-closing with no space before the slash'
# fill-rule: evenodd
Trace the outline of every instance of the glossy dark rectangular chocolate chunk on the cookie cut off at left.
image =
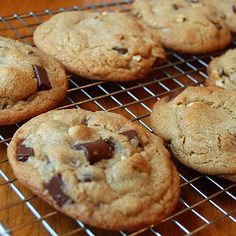
<svg viewBox="0 0 236 236">
<path fill-rule="evenodd" d="M 39 91 L 49 90 L 52 88 L 48 79 L 47 71 L 41 66 L 33 65 L 34 75 L 37 80 L 37 87 Z"/>
</svg>

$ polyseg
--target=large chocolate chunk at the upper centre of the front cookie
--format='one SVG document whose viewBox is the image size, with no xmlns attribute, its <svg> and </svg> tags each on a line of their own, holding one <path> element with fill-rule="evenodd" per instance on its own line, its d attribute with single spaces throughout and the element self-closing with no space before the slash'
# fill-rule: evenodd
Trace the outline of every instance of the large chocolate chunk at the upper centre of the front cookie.
<svg viewBox="0 0 236 236">
<path fill-rule="evenodd" d="M 91 143 L 78 143 L 73 147 L 73 149 L 83 150 L 88 162 L 92 165 L 102 159 L 111 158 L 114 150 L 114 144 L 111 144 L 108 140 L 98 140 Z"/>
</svg>

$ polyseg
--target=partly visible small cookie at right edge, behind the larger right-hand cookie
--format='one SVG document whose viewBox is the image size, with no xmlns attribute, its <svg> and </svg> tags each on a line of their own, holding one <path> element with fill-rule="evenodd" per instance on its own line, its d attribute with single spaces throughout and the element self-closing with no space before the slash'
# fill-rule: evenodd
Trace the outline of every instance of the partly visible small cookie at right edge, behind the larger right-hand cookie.
<svg viewBox="0 0 236 236">
<path fill-rule="evenodd" d="M 236 49 L 213 59 L 207 68 L 206 84 L 236 91 Z"/>
</svg>

